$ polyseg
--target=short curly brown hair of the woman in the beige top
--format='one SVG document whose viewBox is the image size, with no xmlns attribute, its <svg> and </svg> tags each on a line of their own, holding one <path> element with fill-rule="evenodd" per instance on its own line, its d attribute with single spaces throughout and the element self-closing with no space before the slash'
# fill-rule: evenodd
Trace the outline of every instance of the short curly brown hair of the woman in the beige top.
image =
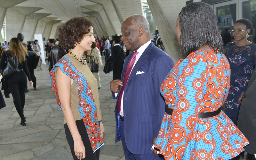
<svg viewBox="0 0 256 160">
<path fill-rule="evenodd" d="M 59 43 L 65 49 L 74 49 L 85 34 L 88 34 L 94 22 L 87 17 L 74 17 L 59 29 Z"/>
</svg>

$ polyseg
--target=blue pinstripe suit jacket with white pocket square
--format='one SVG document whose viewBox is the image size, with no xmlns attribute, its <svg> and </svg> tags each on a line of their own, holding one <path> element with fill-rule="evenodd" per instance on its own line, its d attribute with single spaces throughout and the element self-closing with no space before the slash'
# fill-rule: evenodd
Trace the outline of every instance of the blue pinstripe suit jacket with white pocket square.
<svg viewBox="0 0 256 160">
<path fill-rule="evenodd" d="M 124 61 L 122 81 L 132 55 Z M 152 139 L 157 137 L 164 116 L 165 102 L 160 94 L 160 86 L 173 65 L 173 60 L 151 42 L 132 69 L 124 89 L 123 105 L 125 142 L 133 154 L 152 152 Z M 136 74 L 138 71 L 144 73 Z M 120 118 L 117 111 L 115 113 L 117 142 L 121 140 L 118 135 Z"/>
</svg>

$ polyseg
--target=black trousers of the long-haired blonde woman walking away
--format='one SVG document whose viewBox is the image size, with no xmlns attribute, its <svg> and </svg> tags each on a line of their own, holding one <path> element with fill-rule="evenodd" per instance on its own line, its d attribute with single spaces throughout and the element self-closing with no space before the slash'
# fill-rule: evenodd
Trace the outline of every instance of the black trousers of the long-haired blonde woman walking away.
<svg viewBox="0 0 256 160">
<path fill-rule="evenodd" d="M 19 73 L 7 79 L 7 86 L 11 91 L 14 106 L 19 113 L 21 119 L 24 119 L 23 108 L 25 105 L 26 85 L 27 76 L 24 71 L 20 71 Z"/>
</svg>

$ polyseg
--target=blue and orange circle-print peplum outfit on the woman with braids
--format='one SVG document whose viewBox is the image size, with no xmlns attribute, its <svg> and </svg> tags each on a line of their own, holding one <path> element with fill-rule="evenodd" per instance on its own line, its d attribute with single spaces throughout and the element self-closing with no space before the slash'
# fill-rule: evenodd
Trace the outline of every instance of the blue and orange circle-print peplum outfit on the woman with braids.
<svg viewBox="0 0 256 160">
<path fill-rule="evenodd" d="M 227 99 L 228 60 L 219 52 L 192 52 L 172 68 L 160 88 L 172 115 L 164 114 L 154 146 L 165 159 L 228 160 L 249 142 L 223 111 L 210 118 Z"/>
</svg>

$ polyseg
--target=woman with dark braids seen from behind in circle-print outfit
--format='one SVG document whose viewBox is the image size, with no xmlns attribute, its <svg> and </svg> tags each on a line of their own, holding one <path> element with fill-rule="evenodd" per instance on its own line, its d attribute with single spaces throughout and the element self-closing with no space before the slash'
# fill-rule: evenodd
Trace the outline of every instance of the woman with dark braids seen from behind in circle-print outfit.
<svg viewBox="0 0 256 160">
<path fill-rule="evenodd" d="M 202 2 L 183 7 L 175 32 L 187 57 L 161 85 L 165 114 L 154 154 L 159 151 L 175 160 L 234 158 L 249 141 L 220 110 L 227 99 L 230 68 L 213 9 Z"/>
</svg>

